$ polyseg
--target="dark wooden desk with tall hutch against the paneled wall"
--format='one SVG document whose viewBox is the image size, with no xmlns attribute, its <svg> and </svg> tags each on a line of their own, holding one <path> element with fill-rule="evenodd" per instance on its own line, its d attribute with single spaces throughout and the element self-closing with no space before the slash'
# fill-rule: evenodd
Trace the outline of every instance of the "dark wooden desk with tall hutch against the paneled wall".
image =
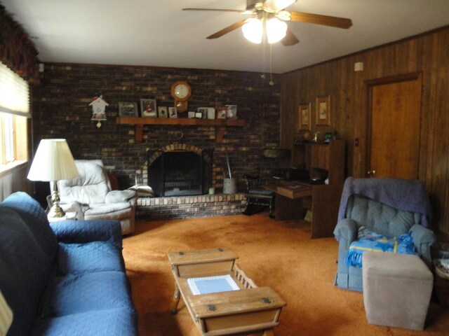
<svg viewBox="0 0 449 336">
<path fill-rule="evenodd" d="M 279 181 L 267 186 L 276 193 L 276 220 L 302 219 L 312 212 L 311 237 L 332 237 L 344 184 L 344 141 L 330 144 L 294 142 L 292 167 L 305 167 L 311 179 L 328 179 L 328 184 L 312 181 Z"/>
</svg>

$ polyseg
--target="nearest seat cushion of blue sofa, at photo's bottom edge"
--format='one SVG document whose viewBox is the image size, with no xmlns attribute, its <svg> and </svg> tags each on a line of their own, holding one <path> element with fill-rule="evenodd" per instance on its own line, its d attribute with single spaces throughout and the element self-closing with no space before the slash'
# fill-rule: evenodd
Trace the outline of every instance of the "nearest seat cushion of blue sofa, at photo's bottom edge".
<svg viewBox="0 0 449 336">
<path fill-rule="evenodd" d="M 88 311 L 78 314 L 39 318 L 32 336 L 135 336 L 135 312 L 129 308 Z"/>
</svg>

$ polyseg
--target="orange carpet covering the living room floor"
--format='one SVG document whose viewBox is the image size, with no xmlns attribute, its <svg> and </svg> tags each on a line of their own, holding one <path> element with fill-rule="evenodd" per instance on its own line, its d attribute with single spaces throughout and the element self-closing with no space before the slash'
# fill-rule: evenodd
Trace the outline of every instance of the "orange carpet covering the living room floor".
<svg viewBox="0 0 449 336">
<path fill-rule="evenodd" d="M 167 253 L 232 248 L 258 286 L 287 302 L 276 336 L 449 335 L 449 309 L 431 302 L 424 332 L 366 322 L 362 293 L 333 286 L 338 244 L 310 239 L 304 221 L 274 221 L 264 214 L 137 223 L 123 239 L 123 256 L 139 314 L 141 336 L 199 335 L 182 299 L 170 314 L 174 280 Z"/>
</svg>

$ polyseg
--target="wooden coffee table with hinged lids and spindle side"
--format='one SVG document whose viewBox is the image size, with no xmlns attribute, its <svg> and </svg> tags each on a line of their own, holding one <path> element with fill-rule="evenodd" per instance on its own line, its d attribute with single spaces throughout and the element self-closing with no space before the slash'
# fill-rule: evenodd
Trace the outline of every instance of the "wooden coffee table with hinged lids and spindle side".
<svg viewBox="0 0 449 336">
<path fill-rule="evenodd" d="M 201 335 L 274 335 L 286 302 L 269 287 L 257 287 L 235 265 L 239 258 L 229 248 L 168 253 L 175 294 L 172 313 L 176 314 L 180 295 Z M 239 290 L 194 295 L 188 279 L 231 276 Z"/>
</svg>

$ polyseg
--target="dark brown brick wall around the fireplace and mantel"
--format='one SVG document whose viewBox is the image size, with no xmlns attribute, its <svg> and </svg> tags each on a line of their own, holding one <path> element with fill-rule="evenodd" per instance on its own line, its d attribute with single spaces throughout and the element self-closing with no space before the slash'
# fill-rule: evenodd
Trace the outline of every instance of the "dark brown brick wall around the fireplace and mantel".
<svg viewBox="0 0 449 336">
<path fill-rule="evenodd" d="M 262 172 L 264 179 L 279 162 L 263 158 L 263 148 L 279 147 L 279 78 L 271 86 L 260 73 L 205 69 L 175 69 L 149 66 L 105 66 L 91 64 L 45 64 L 41 74 L 41 108 L 34 113 L 36 144 L 41 138 L 67 139 L 74 158 L 100 158 L 117 176 L 120 188 L 135 184 L 147 151 L 178 140 L 198 148 L 214 148 L 214 186 L 222 188 L 222 167 L 229 155 L 233 177 L 243 190 L 243 174 Z M 170 86 L 187 80 L 192 86 L 189 111 L 198 107 L 238 106 L 244 127 L 227 127 L 221 142 L 215 127 L 145 125 L 143 141 L 135 143 L 135 128 L 116 124 L 119 102 L 156 99 L 158 106 L 173 106 Z M 91 121 L 89 103 L 102 94 L 109 104 L 107 121 L 99 129 Z M 140 104 L 138 104 L 140 106 Z M 180 113 L 187 118 L 187 112 Z M 141 176 L 138 176 L 140 179 Z"/>
</svg>

